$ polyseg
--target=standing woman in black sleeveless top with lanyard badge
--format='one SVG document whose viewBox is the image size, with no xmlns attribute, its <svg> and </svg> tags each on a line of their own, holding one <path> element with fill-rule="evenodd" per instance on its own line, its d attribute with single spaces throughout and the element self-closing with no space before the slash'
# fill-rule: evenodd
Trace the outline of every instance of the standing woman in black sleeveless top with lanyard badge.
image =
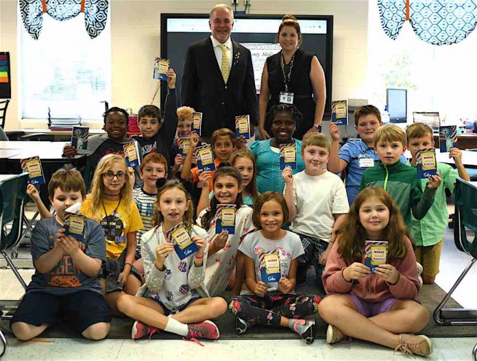
<svg viewBox="0 0 477 361">
<path fill-rule="evenodd" d="M 321 131 L 326 101 L 325 75 L 317 56 L 299 49 L 302 34 L 294 16 L 283 17 L 277 38 L 282 50 L 267 58 L 262 73 L 259 131 L 263 139 L 271 138 L 265 129 L 265 114 L 277 103 L 293 102 L 303 115 L 302 125 L 293 135 L 301 140 L 308 131 Z"/>
</svg>

